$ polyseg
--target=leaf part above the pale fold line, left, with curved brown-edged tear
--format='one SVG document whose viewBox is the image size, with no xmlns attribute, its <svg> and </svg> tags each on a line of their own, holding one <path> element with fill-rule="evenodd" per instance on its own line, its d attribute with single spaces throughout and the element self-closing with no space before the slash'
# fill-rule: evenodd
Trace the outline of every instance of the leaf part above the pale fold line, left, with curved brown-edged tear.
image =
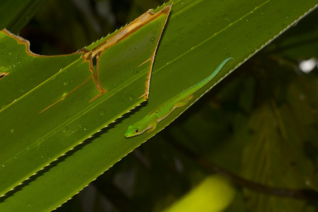
<svg viewBox="0 0 318 212">
<path fill-rule="evenodd" d="M 0 108 L 17 101 L 82 55 L 82 53 L 57 56 L 35 54 L 30 51 L 28 40 L 6 29 L 0 31 L 0 46 Z M 8 88 L 10 88 L 9 93 Z"/>
</svg>

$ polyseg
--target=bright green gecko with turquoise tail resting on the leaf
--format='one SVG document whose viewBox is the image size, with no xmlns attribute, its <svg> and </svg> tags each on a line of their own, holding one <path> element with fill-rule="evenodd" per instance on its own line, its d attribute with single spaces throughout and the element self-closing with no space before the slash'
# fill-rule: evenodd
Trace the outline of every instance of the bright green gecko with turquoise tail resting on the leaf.
<svg viewBox="0 0 318 212">
<path fill-rule="evenodd" d="M 193 93 L 197 92 L 204 85 L 208 84 L 217 74 L 221 71 L 223 66 L 233 58 L 226 58 L 210 76 L 191 86 L 190 88 L 183 90 L 176 94 L 174 97 L 168 99 L 163 104 L 158 106 L 155 110 L 150 112 L 142 120 L 137 121 L 133 125 L 129 125 L 125 137 L 133 137 L 140 135 L 147 130 L 147 133 L 154 131 L 157 124 L 162 119 L 166 118 L 174 109 L 186 105 L 190 99 L 193 98 Z"/>
</svg>

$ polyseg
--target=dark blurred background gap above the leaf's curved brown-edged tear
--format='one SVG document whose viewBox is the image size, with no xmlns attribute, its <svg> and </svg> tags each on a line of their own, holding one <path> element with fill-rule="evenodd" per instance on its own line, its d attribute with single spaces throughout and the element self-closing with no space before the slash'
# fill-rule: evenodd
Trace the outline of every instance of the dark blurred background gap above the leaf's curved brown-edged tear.
<svg viewBox="0 0 318 212">
<path fill-rule="evenodd" d="M 48 0 L 20 36 L 38 54 L 72 53 L 121 28 L 162 0 Z"/>
</svg>

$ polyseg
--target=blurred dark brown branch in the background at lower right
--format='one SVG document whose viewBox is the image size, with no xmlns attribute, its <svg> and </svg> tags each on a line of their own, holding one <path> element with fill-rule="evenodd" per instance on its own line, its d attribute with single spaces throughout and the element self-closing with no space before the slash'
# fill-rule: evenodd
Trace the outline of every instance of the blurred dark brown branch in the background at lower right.
<svg viewBox="0 0 318 212">
<path fill-rule="evenodd" d="M 229 180 L 231 180 L 233 183 L 235 183 L 238 186 L 251 189 L 254 191 L 258 191 L 261 193 L 265 193 L 265 194 L 275 195 L 275 196 L 289 197 L 289 198 L 303 199 L 303 200 L 318 200 L 318 192 L 315 192 L 314 190 L 277 188 L 277 187 L 266 186 L 266 185 L 253 182 L 250 180 L 246 180 L 243 177 L 233 174 L 230 171 L 217 166 L 211 161 L 206 160 L 205 158 L 194 153 L 192 150 L 174 141 L 173 139 L 169 138 L 167 140 L 169 140 L 169 143 L 172 144 L 175 148 L 183 152 L 183 154 L 186 154 L 187 156 L 192 158 L 204 169 L 212 173 L 220 174 L 228 178 Z"/>
</svg>

